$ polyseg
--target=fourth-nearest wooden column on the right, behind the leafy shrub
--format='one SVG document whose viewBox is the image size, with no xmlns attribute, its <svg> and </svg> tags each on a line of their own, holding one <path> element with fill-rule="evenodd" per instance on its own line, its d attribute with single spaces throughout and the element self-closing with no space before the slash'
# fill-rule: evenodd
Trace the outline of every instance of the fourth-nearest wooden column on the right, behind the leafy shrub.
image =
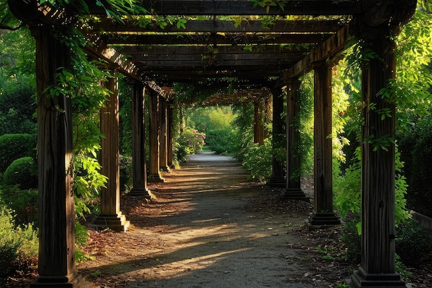
<svg viewBox="0 0 432 288">
<path fill-rule="evenodd" d="M 284 112 L 284 91 L 282 88 L 275 88 L 271 90 L 273 95 L 273 151 L 276 148 L 286 146 L 286 133 L 284 131 L 284 119 L 282 113 Z M 277 159 L 273 153 L 271 177 L 267 184 L 275 187 L 285 187 L 285 165 L 284 162 Z"/>
</svg>

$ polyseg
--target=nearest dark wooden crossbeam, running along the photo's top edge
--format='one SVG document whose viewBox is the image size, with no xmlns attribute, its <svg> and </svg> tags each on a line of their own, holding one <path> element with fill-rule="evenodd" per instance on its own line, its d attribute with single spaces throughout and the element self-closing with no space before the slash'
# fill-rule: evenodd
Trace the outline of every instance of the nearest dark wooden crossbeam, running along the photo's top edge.
<svg viewBox="0 0 432 288">
<path fill-rule="evenodd" d="M 87 1 L 90 12 L 105 15 L 95 1 Z M 357 1 L 284 1 L 284 8 L 255 6 L 253 1 L 233 0 L 146 0 L 142 6 L 156 15 L 353 15 L 362 12 Z"/>
</svg>

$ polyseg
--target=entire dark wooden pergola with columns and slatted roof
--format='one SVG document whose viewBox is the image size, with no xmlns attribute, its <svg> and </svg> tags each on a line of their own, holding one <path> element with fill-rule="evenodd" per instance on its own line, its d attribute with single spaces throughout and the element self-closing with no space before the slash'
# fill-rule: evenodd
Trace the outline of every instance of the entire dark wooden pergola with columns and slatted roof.
<svg viewBox="0 0 432 288">
<path fill-rule="evenodd" d="M 72 131 L 70 97 L 53 99 L 46 88 L 57 68 L 67 65 L 66 47 L 52 35 L 52 28 L 75 25 L 75 10 L 55 10 L 39 1 L 10 0 L 10 10 L 27 23 L 37 43 L 38 155 L 40 199 L 39 278 L 31 287 L 87 287 L 75 268 L 75 212 L 72 191 Z M 146 0 L 142 6 L 157 16 L 188 16 L 161 28 L 139 25 L 131 19 L 118 23 L 106 11 L 87 1 L 99 23 L 84 29 L 91 57 L 108 61 L 109 68 L 126 75 L 132 86 L 133 189 L 148 195 L 147 181 L 163 181 L 160 169 L 168 169 L 172 157 L 170 102 L 166 86 L 176 81 L 212 77 L 236 77 L 270 88 L 275 109 L 286 87 L 286 175 L 284 198 L 304 199 L 300 179 L 293 177 L 299 165 L 293 151 L 298 131 L 296 117 L 300 76 L 313 70 L 315 137 L 315 207 L 311 226 L 340 223 L 333 212 L 331 153 L 332 68 L 351 39 L 363 41 L 378 57 L 362 70 L 364 126 L 362 137 L 393 137 L 395 105 L 377 97 L 395 77 L 395 43 L 401 25 L 409 21 L 416 1 L 254 1 Z M 73 3 L 73 2 L 72 2 Z M 267 4 L 266 4 L 267 3 Z M 270 3 L 275 4 L 269 5 Z M 232 16 L 230 20 L 227 16 Z M 257 17 L 266 16 L 266 17 Z M 275 21 L 264 19 L 275 16 Z M 276 17 L 277 16 L 277 17 Z M 151 20 L 151 19 L 150 19 Z M 117 78 L 105 84 L 113 93 L 101 111 L 101 165 L 109 180 L 101 191 L 101 215 L 93 223 L 126 231 L 128 221 L 119 209 L 119 132 Z M 255 87 L 256 88 L 256 87 Z M 146 172 L 144 90 L 150 95 L 150 167 Z M 279 100 L 276 100 L 279 99 Z M 277 102 L 278 101 L 278 102 Z M 373 104 L 377 109 L 369 107 Z M 393 117 L 381 119 L 377 110 Z M 259 112 L 259 109 L 256 109 Z M 168 137 L 167 137 L 168 135 Z M 273 166 L 276 171 L 277 164 Z M 280 166 L 280 165 L 279 165 Z M 395 272 L 395 162 L 394 145 L 374 151 L 362 144 L 362 263 L 349 281 L 350 287 L 406 287 Z M 280 180 L 280 179 L 279 179 Z"/>
</svg>

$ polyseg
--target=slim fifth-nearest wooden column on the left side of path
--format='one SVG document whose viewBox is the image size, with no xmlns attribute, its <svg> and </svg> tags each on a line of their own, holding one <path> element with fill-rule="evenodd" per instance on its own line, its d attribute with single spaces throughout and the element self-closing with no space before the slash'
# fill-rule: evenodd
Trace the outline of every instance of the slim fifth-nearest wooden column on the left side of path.
<svg viewBox="0 0 432 288">
<path fill-rule="evenodd" d="M 168 167 L 168 103 L 159 96 L 159 169 L 170 172 Z"/>
</svg>

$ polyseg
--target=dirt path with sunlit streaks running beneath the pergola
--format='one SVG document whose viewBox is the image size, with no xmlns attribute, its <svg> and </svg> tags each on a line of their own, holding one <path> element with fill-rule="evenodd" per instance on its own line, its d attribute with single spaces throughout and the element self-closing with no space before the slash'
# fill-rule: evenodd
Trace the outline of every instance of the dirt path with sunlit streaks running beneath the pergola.
<svg viewBox="0 0 432 288">
<path fill-rule="evenodd" d="M 311 204 L 281 202 L 232 158 L 193 155 L 164 177 L 149 185 L 155 202 L 122 198 L 128 232 L 90 232 L 95 260 L 78 269 L 95 287 L 328 288 L 348 276 L 313 246 Z"/>
</svg>

